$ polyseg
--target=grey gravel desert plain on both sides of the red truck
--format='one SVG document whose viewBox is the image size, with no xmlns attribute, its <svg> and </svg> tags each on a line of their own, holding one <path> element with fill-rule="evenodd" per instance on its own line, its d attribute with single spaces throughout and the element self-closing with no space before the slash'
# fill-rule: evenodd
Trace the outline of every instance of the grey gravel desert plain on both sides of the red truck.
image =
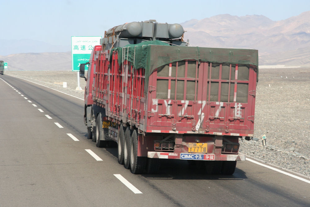
<svg viewBox="0 0 310 207">
<path fill-rule="evenodd" d="M 7 71 L 62 92 L 84 98 L 77 72 Z M 63 82 L 67 88 L 63 88 Z M 85 88 L 80 78 L 80 87 Z M 240 142 L 240 152 L 310 177 L 310 68 L 260 69 L 255 101 L 253 140 Z M 267 146 L 261 137 L 266 135 Z"/>
</svg>

